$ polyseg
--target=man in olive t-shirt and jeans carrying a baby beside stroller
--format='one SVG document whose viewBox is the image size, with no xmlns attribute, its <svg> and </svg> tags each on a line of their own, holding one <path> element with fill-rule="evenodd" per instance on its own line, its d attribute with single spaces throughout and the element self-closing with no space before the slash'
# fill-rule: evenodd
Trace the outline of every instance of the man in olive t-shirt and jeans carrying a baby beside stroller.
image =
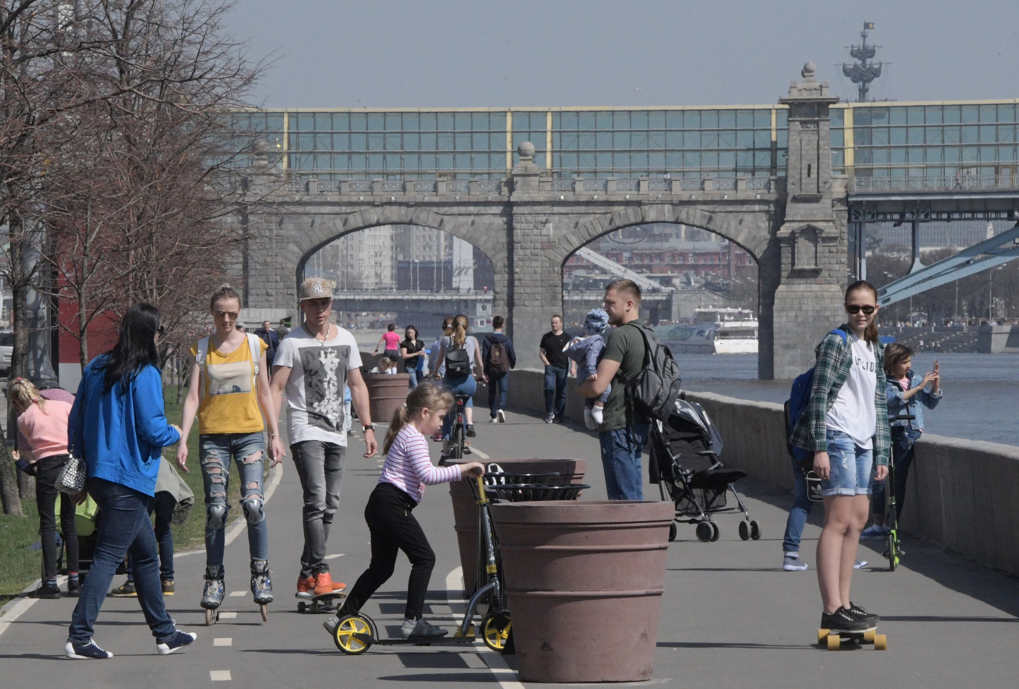
<svg viewBox="0 0 1019 689">
<path fill-rule="evenodd" d="M 636 409 L 628 410 L 626 386 L 644 369 L 647 348 L 641 332 L 640 287 L 633 280 L 615 280 L 605 287 L 605 312 L 615 329 L 598 362 L 597 377 L 588 378 L 578 391 L 585 398 L 608 399 L 598 433 L 605 488 L 610 500 L 641 500 L 641 449 L 647 441 L 648 418 Z M 653 334 L 653 333 L 652 333 Z"/>
</svg>

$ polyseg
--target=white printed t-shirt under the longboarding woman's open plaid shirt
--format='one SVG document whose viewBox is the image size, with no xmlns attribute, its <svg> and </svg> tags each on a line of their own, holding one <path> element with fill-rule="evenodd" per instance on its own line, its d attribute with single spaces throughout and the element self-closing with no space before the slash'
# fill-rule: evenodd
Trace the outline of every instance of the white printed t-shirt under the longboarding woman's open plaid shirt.
<svg viewBox="0 0 1019 689">
<path fill-rule="evenodd" d="M 872 438 L 877 432 L 877 409 L 874 393 L 877 390 L 877 371 L 874 349 L 849 333 L 852 342 L 853 364 L 849 367 L 846 382 L 839 389 L 835 404 L 828 410 L 825 423 L 828 428 L 841 430 L 853 438 L 853 442 L 864 449 L 870 449 Z"/>
</svg>

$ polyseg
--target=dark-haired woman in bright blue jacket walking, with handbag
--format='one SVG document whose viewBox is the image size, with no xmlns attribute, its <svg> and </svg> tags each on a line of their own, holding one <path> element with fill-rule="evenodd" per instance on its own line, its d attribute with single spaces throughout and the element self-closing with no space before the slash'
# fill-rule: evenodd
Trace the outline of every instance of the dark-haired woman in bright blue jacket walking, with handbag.
<svg viewBox="0 0 1019 689">
<path fill-rule="evenodd" d="M 176 630 L 163 604 L 159 546 L 149 521 L 162 448 L 180 439 L 180 429 L 163 413 L 157 368 L 159 310 L 136 304 L 120 320 L 120 336 L 109 354 L 82 373 L 67 423 L 68 449 L 85 459 L 86 490 L 99 505 L 96 549 L 71 617 L 64 651 L 70 658 L 108 658 L 92 640 L 93 625 L 117 565 L 130 551 L 138 601 L 160 654 L 172 653 L 197 637 Z M 78 495 L 84 497 L 84 495 Z"/>
</svg>

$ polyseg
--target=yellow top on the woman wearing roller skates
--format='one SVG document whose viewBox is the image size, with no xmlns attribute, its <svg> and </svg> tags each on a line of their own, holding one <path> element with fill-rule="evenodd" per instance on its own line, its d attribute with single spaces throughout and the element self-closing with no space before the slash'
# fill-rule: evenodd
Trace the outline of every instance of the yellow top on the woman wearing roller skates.
<svg viewBox="0 0 1019 689">
<path fill-rule="evenodd" d="M 261 357 L 268 344 L 261 337 L 257 339 Z M 198 356 L 198 342 L 191 346 L 191 353 Z M 198 408 L 199 433 L 255 433 L 265 428 L 247 336 L 240 347 L 227 355 L 220 354 L 210 337 L 201 370 L 205 384 Z"/>
</svg>

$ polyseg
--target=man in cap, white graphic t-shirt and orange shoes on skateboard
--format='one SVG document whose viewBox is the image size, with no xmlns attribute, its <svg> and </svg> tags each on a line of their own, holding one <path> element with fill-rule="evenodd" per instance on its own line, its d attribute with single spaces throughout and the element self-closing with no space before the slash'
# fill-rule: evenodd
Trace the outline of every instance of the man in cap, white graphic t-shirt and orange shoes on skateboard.
<svg viewBox="0 0 1019 689">
<path fill-rule="evenodd" d="M 330 322 L 332 288 L 317 277 L 301 283 L 304 323 L 279 343 L 272 368 L 272 395 L 279 415 L 286 393 L 286 426 L 290 452 L 304 490 L 305 549 L 298 578 L 299 598 L 344 588 L 333 583 L 325 562 L 329 527 L 339 506 L 339 486 L 346 458 L 346 410 L 343 388 L 361 419 L 368 452 L 378 449 L 361 377 L 361 355 L 350 331 Z"/>
</svg>

